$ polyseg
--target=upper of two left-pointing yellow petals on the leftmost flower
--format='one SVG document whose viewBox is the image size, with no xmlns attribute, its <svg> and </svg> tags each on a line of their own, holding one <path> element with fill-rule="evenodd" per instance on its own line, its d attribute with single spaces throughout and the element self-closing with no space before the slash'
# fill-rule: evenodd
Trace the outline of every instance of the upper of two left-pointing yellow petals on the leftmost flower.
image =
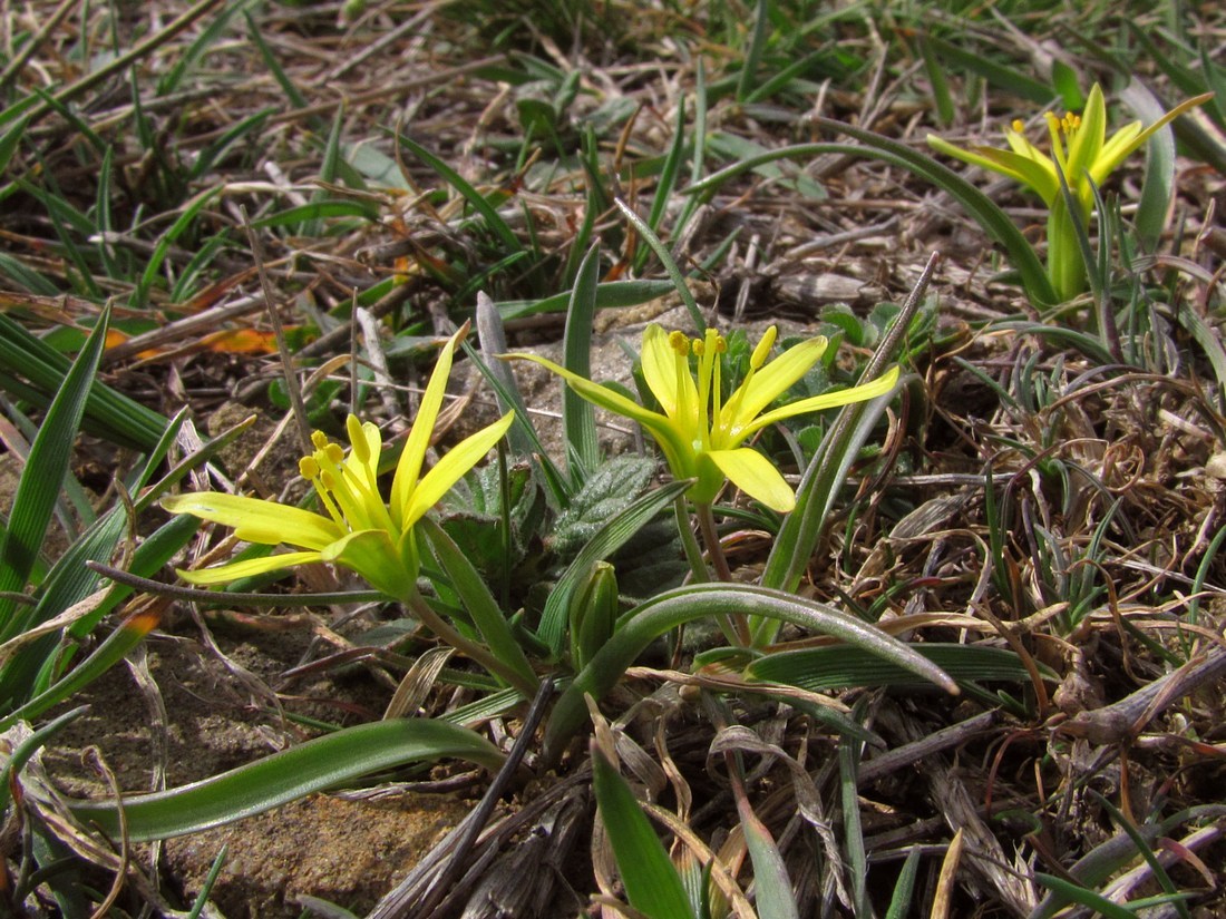
<svg viewBox="0 0 1226 919">
<path fill-rule="evenodd" d="M 170 513 L 190 513 L 201 520 L 234 528 L 246 543 L 288 543 L 305 549 L 322 549 L 345 534 L 333 521 L 300 507 L 221 491 L 168 495 L 162 507 Z"/>
</svg>

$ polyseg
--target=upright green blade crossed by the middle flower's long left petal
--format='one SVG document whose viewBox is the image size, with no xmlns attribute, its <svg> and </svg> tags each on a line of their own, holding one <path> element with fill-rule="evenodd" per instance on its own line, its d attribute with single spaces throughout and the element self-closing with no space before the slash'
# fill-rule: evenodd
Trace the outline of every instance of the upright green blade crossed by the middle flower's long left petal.
<svg viewBox="0 0 1226 919">
<path fill-rule="evenodd" d="M 596 288 L 600 281 L 600 244 L 593 245 L 575 278 L 566 310 L 566 331 L 563 337 L 563 366 L 580 376 L 592 373 L 592 321 L 596 319 Z M 600 462 L 596 442 L 596 410 L 569 386 L 562 387 L 562 429 L 566 441 L 570 483 L 577 485 L 585 473 Z"/>
</svg>

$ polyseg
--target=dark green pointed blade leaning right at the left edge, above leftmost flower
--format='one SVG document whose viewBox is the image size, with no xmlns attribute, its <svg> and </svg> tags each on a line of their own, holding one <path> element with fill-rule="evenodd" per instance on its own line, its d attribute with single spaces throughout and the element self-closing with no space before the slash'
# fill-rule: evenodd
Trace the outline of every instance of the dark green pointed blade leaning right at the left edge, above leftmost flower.
<svg viewBox="0 0 1226 919">
<path fill-rule="evenodd" d="M 0 543 L 0 593 L 22 591 L 34 569 L 55 501 L 67 475 L 89 387 L 98 373 L 107 341 L 108 319 L 109 311 L 103 311 L 98 317 L 98 325 L 72 363 L 29 447 L 9 515 L 9 526 L 4 542 Z M 0 640 L 7 641 L 21 630 L 20 619 L 13 616 L 15 610 L 13 600 L 0 597 Z"/>
</svg>

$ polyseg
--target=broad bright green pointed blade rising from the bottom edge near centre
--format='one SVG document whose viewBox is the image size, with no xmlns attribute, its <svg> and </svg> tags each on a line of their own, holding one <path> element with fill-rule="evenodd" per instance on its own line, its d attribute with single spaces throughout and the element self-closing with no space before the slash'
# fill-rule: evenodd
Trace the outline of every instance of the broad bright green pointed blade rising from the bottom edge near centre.
<svg viewBox="0 0 1226 919">
<path fill-rule="evenodd" d="M 592 745 L 592 790 L 630 906 L 650 919 L 694 919 L 680 874 L 625 779 Z"/>
</svg>

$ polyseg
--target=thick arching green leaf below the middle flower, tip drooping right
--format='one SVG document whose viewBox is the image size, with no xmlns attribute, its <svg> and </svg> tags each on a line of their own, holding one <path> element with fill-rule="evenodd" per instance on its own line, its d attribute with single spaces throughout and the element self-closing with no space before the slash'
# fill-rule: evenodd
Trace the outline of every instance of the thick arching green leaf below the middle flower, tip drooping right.
<svg viewBox="0 0 1226 919">
<path fill-rule="evenodd" d="M 913 648 L 834 607 L 753 584 L 690 584 L 666 591 L 622 616 L 613 637 L 558 697 L 546 727 L 547 758 L 562 752 L 562 745 L 587 717 L 585 695 L 597 701 L 603 698 L 639 654 L 664 632 L 684 622 L 698 619 L 714 621 L 718 616 L 764 616 L 792 622 L 819 635 L 831 635 L 848 645 L 870 648 L 946 692 L 958 692 L 949 675 Z"/>
</svg>

